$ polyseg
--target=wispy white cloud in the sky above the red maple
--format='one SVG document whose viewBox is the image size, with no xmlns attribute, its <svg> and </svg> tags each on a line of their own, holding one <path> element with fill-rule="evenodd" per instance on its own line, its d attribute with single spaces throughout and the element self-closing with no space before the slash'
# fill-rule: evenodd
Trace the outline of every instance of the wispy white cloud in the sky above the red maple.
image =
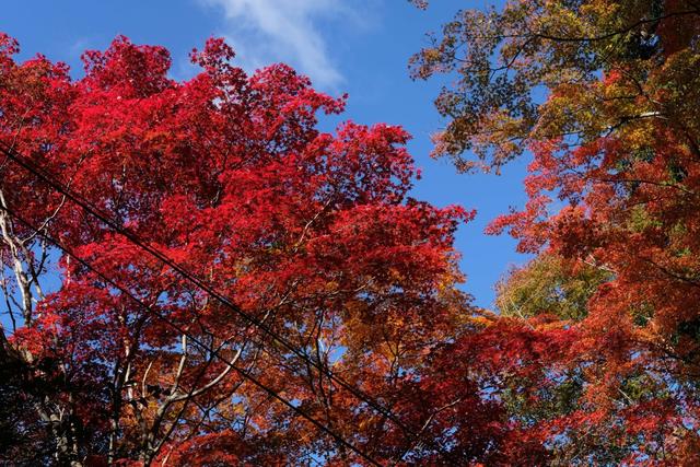
<svg viewBox="0 0 700 467">
<path fill-rule="evenodd" d="M 319 21 L 358 22 L 343 0 L 201 0 L 219 7 L 226 36 L 244 68 L 283 61 L 308 74 L 320 87 L 335 90 L 343 78 L 329 56 Z"/>
</svg>

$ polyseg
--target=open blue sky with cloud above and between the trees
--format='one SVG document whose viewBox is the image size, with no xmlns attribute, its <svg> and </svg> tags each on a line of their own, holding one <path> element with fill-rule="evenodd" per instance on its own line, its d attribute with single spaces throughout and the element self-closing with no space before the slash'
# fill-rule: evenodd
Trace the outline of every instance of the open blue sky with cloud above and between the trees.
<svg viewBox="0 0 700 467">
<path fill-rule="evenodd" d="M 501 176 L 459 175 L 446 160 L 429 157 L 430 135 L 442 125 L 432 101 L 441 81 L 411 81 L 407 61 L 459 8 L 482 8 L 486 0 L 433 0 L 420 11 L 406 0 L 39 0 L 3 5 L 0 31 L 20 40 L 21 58 L 42 52 L 66 61 L 80 75 L 84 49 L 104 49 L 118 34 L 135 43 L 158 44 L 173 55 L 172 75 L 194 72 L 188 52 L 210 36 L 225 36 L 236 61 L 252 70 L 288 62 L 331 94 L 349 93 L 342 119 L 404 126 L 423 177 L 412 196 L 436 206 L 477 209 L 477 219 L 459 229 L 457 249 L 468 276 L 465 290 L 491 306 L 493 284 L 513 264 L 526 260 L 508 236 L 487 236 L 483 227 L 524 203 L 526 161 Z M 326 121 L 325 126 L 336 121 Z"/>
</svg>

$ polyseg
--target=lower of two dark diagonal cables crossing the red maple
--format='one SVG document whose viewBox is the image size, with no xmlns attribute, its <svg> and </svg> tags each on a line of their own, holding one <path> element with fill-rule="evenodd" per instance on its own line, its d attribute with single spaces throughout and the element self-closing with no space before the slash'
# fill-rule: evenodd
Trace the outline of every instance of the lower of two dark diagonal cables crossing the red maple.
<svg viewBox="0 0 700 467">
<path fill-rule="evenodd" d="M 30 230 L 37 232 L 38 235 L 40 235 L 42 237 L 44 237 L 47 242 L 51 243 L 52 245 L 55 245 L 57 248 L 59 248 L 60 250 L 62 250 L 65 254 L 69 255 L 70 257 L 72 257 L 74 260 L 77 260 L 79 264 L 81 264 L 83 267 L 90 269 L 91 271 L 93 271 L 95 275 L 97 275 L 100 278 L 102 278 L 102 280 L 104 280 L 105 282 L 109 283 L 112 287 L 114 287 L 115 289 L 119 290 L 121 293 L 126 294 L 128 297 L 130 297 L 132 301 L 135 301 L 139 306 L 143 307 L 144 310 L 147 310 L 149 313 L 151 313 L 153 316 L 155 316 L 156 318 L 161 319 L 163 323 L 165 323 L 167 326 L 171 326 L 173 329 L 175 329 L 177 332 L 187 336 L 188 339 L 190 339 L 192 342 L 195 342 L 196 345 L 198 345 L 199 347 L 201 347 L 203 350 L 208 351 L 212 357 L 221 360 L 224 364 L 226 364 L 228 366 L 230 366 L 232 370 L 234 370 L 235 372 L 237 372 L 241 376 L 243 376 L 244 378 L 248 380 L 249 382 L 252 382 L 253 384 L 255 384 L 257 387 L 259 387 L 260 389 L 265 390 L 267 394 L 269 394 L 270 396 L 272 396 L 275 399 L 277 399 L 278 401 L 280 401 L 281 404 L 283 404 L 284 406 L 289 407 L 290 409 L 292 409 L 294 412 L 296 412 L 299 416 L 301 416 L 302 418 L 304 418 L 305 420 L 307 420 L 308 422 L 311 422 L 313 425 L 315 425 L 317 429 L 322 430 L 323 432 L 325 432 L 326 434 L 330 435 L 334 440 L 336 440 L 337 442 L 339 442 L 340 444 L 342 444 L 343 446 L 350 448 L 352 452 L 354 452 L 355 454 L 358 454 L 359 456 L 361 456 L 362 458 L 364 458 L 365 460 L 368 460 L 369 463 L 371 463 L 374 466 L 377 467 L 382 467 L 382 464 L 380 464 L 377 460 L 375 460 L 373 457 L 371 457 L 369 454 L 366 454 L 364 451 L 360 450 L 359 447 L 357 447 L 354 444 L 352 444 L 351 442 L 347 441 L 345 437 L 342 437 L 340 434 L 336 433 L 334 430 L 331 430 L 330 428 L 328 428 L 327 425 L 325 425 L 324 423 L 319 422 L 318 420 L 316 420 L 315 418 L 313 418 L 312 416 L 310 416 L 308 413 L 306 413 L 304 410 L 300 409 L 299 407 L 294 406 L 292 402 L 290 402 L 288 399 L 285 399 L 284 397 L 280 396 L 279 393 L 277 393 L 275 389 L 270 388 L 269 386 L 267 386 L 266 384 L 264 384 L 262 382 L 260 382 L 258 378 L 256 378 L 255 376 L 253 376 L 250 374 L 250 372 L 248 372 L 247 370 L 244 370 L 235 364 L 233 364 L 232 362 L 230 362 L 229 360 L 226 360 L 224 357 L 221 355 L 221 353 L 219 353 L 219 350 L 213 349 L 209 346 L 207 346 L 205 342 L 201 341 L 201 339 L 192 336 L 191 334 L 187 332 L 182 326 L 177 325 L 176 323 L 173 323 L 170 318 L 165 317 L 163 314 L 161 314 L 158 310 L 153 308 L 152 306 L 143 303 L 143 301 L 141 299 L 139 299 L 138 296 L 136 296 L 133 293 L 131 293 L 128 289 L 126 289 L 125 287 L 118 284 L 115 280 L 110 279 L 109 277 L 107 277 L 105 273 L 98 271 L 94 266 L 92 266 L 91 264 L 89 264 L 85 259 L 79 257 L 78 255 L 75 255 L 69 247 L 67 247 L 66 245 L 63 245 L 60 241 L 54 238 L 52 236 L 50 236 L 48 233 L 46 232 L 39 232 L 34 225 L 32 225 L 32 223 L 30 223 L 28 221 L 26 221 L 24 218 L 22 218 L 20 214 L 18 214 L 14 210 L 10 209 L 7 206 L 2 206 L 0 205 L 0 209 L 5 211 L 8 214 L 12 215 L 14 219 L 16 219 L 18 221 L 20 221 L 22 224 L 24 224 L 26 227 L 28 227 Z"/>
</svg>

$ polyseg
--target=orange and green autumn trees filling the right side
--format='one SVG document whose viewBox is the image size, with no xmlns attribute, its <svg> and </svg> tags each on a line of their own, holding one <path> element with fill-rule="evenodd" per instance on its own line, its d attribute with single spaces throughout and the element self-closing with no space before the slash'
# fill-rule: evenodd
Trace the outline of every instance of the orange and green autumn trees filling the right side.
<svg viewBox="0 0 700 467">
<path fill-rule="evenodd" d="M 501 313 L 570 339 L 511 396 L 548 463 L 699 462 L 699 38 L 693 1 L 509 1 L 413 58 L 417 78 L 459 77 L 436 155 L 532 153 L 526 206 L 489 232 L 537 255 L 498 285 Z"/>
</svg>

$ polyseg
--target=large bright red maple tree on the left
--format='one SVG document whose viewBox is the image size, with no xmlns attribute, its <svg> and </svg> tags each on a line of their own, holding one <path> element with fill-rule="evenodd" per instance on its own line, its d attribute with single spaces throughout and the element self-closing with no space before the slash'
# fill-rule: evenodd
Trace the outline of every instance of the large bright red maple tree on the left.
<svg viewBox="0 0 700 467">
<path fill-rule="evenodd" d="M 2 430 L 15 440 L 3 459 L 439 455 L 424 436 L 451 419 L 432 422 L 447 402 L 433 397 L 444 383 L 432 355 L 476 328 L 452 246 L 471 213 L 407 197 L 415 168 L 401 128 L 322 132 L 317 115 L 340 113 L 343 98 L 283 65 L 247 75 L 219 39 L 192 51 L 202 71 L 185 82 L 167 77 L 165 49 L 126 37 L 85 52 L 80 79 L 42 56 L 18 63 L 16 51 L 2 36 L 2 357 L 12 375 Z M 503 421 L 470 412 L 476 383 L 454 397 L 475 427 Z M 485 437 L 469 455 L 489 446 Z"/>
</svg>

